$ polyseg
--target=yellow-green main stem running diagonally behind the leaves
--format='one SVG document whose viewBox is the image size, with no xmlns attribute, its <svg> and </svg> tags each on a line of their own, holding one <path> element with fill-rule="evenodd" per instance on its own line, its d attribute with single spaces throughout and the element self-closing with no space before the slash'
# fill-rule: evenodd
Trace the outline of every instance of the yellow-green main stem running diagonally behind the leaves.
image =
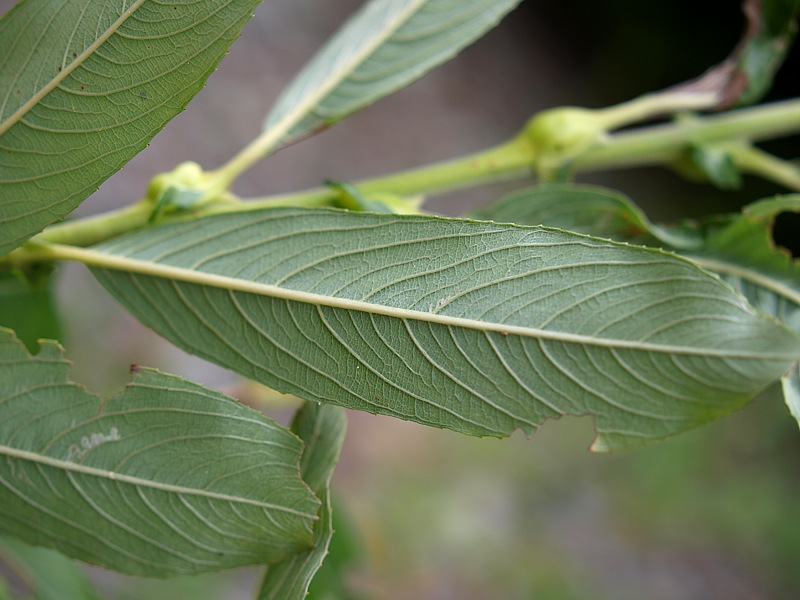
<svg viewBox="0 0 800 600">
<path fill-rule="evenodd" d="M 535 170 L 541 153 L 537 152 L 533 140 L 527 135 L 527 129 L 526 127 L 512 140 L 489 150 L 354 182 L 352 186 L 365 197 L 374 194 L 417 196 L 510 178 L 528 177 Z M 571 166 L 576 172 L 585 172 L 644 165 L 669 165 L 678 159 L 690 144 L 759 141 L 798 132 L 800 132 L 800 100 L 791 100 L 609 135 L 577 155 Z M 753 153 L 749 162 L 741 165 L 741 168 L 777 181 L 791 189 L 798 189 L 797 169 L 779 159 L 768 160 L 765 156 Z M 231 202 L 230 194 L 221 193 L 215 201 L 196 206 L 191 211 L 166 215 L 163 221 L 186 220 L 209 214 L 271 206 L 338 206 L 340 199 L 341 191 L 334 186 L 255 198 L 247 202 Z M 72 246 L 91 245 L 147 226 L 152 210 L 152 201 L 144 199 L 118 211 L 49 227 L 33 241 Z M 8 265 L 10 262 L 8 258 L 0 259 L 0 265 Z"/>
</svg>

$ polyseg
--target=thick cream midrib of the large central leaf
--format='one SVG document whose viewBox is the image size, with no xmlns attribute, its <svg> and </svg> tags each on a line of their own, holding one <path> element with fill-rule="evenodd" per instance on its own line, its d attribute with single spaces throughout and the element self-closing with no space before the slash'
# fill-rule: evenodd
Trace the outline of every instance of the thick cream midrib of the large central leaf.
<svg viewBox="0 0 800 600">
<path fill-rule="evenodd" d="M 719 348 L 673 346 L 631 340 L 591 337 L 583 334 L 550 331 L 545 329 L 537 329 L 534 327 L 524 327 L 520 325 L 489 323 L 486 321 L 478 321 L 476 319 L 468 319 L 464 317 L 453 317 L 407 308 L 384 306 L 381 304 L 365 302 L 363 300 L 352 300 L 350 298 L 338 298 L 313 292 L 292 290 L 267 283 L 237 279 L 235 277 L 206 273 L 203 271 L 194 271 L 184 267 L 164 265 L 152 261 L 100 252 L 97 250 L 59 244 L 49 244 L 47 248 L 50 253 L 52 253 L 52 258 L 55 260 L 75 260 L 90 267 L 122 271 L 137 275 L 146 275 L 234 292 L 256 294 L 259 296 L 267 296 L 270 298 L 303 304 L 327 306 L 330 308 L 339 308 L 354 312 L 392 317 L 404 321 L 419 321 L 444 325 L 447 327 L 493 332 L 503 336 L 514 335 L 525 338 L 573 343 L 615 350 L 638 350 L 641 352 L 701 356 L 706 358 L 714 357 L 755 360 L 796 360 L 797 358 L 791 353 L 746 352 Z"/>
</svg>

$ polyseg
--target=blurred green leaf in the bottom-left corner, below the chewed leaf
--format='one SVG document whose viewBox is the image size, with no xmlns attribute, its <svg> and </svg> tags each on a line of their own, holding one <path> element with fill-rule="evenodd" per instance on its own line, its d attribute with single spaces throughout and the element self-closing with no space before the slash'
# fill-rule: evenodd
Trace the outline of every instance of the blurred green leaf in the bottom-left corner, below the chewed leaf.
<svg viewBox="0 0 800 600">
<path fill-rule="evenodd" d="M 0 538 L 0 558 L 29 586 L 36 600 L 99 600 L 89 578 L 53 550 Z"/>
</svg>

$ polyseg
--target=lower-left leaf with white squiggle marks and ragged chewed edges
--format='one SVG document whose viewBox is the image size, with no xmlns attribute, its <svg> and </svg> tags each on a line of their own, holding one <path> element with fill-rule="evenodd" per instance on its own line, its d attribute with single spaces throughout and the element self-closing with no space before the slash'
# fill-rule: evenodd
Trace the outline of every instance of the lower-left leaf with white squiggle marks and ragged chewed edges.
<svg viewBox="0 0 800 600">
<path fill-rule="evenodd" d="M 0 330 L 0 533 L 122 573 L 274 562 L 309 547 L 318 500 L 287 429 L 139 369 L 101 403 Z"/>
</svg>

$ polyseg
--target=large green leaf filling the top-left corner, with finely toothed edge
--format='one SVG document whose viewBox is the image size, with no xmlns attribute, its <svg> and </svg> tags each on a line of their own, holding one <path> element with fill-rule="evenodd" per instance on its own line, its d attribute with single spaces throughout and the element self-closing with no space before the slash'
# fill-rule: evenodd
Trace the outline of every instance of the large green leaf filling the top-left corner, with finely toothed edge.
<svg viewBox="0 0 800 600">
<path fill-rule="evenodd" d="M 0 255 L 140 152 L 257 4 L 27 0 L 0 20 Z"/>
</svg>

